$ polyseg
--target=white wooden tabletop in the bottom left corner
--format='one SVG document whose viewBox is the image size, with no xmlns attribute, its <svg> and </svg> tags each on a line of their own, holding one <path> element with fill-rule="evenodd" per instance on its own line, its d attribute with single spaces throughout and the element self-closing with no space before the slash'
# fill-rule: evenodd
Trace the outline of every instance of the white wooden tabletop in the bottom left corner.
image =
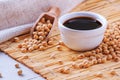
<svg viewBox="0 0 120 80">
<path fill-rule="evenodd" d="M 19 76 L 15 68 L 15 64 L 18 63 L 23 71 L 23 76 Z M 23 64 L 15 61 L 4 52 L 0 52 L 0 73 L 2 78 L 0 80 L 45 80 L 39 74 L 34 73 L 31 69 L 27 68 Z"/>
</svg>

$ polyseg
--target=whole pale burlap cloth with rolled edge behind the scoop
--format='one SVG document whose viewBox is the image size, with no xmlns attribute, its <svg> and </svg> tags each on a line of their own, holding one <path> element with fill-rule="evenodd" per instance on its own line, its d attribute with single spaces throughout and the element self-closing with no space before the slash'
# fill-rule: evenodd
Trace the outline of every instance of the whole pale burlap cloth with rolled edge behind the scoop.
<svg viewBox="0 0 120 80">
<path fill-rule="evenodd" d="M 38 16 L 57 6 L 61 15 L 83 0 L 0 0 L 0 43 L 30 30 Z"/>
</svg>

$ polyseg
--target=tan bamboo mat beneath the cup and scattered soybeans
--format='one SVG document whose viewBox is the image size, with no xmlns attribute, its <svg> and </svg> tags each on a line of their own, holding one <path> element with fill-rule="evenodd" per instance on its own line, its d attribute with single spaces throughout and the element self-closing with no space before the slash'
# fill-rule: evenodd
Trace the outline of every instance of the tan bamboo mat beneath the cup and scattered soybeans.
<svg viewBox="0 0 120 80">
<path fill-rule="evenodd" d="M 93 11 L 105 16 L 109 25 L 120 21 L 120 0 L 85 0 L 83 3 L 76 6 L 71 12 L 75 11 Z M 25 64 L 34 72 L 42 75 L 47 80 L 120 80 L 120 75 L 111 76 L 109 71 L 115 69 L 120 74 L 120 62 L 108 61 L 104 64 L 98 64 L 86 69 L 73 69 L 69 74 L 58 72 L 59 68 L 68 66 L 71 67 L 72 62 L 81 62 L 82 59 L 72 61 L 71 57 L 79 55 L 81 52 L 75 52 L 63 46 L 62 51 L 56 49 L 57 42 L 60 40 L 58 29 L 54 32 L 54 45 L 45 51 L 35 50 L 33 52 L 22 53 L 17 45 L 23 42 L 24 38 L 29 38 L 29 34 L 20 36 L 20 42 L 13 42 L 11 39 L 0 45 L 1 51 L 4 51 L 13 59 Z M 50 55 L 55 54 L 55 58 L 50 58 Z M 24 56 L 28 56 L 26 59 Z M 59 60 L 63 64 L 58 63 Z M 104 77 L 99 78 L 94 76 L 96 73 L 102 72 Z"/>
</svg>

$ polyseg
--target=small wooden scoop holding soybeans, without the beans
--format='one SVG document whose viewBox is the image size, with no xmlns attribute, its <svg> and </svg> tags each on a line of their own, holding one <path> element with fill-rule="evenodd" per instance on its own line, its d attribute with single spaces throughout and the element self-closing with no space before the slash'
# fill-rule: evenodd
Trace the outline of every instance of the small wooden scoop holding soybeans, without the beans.
<svg viewBox="0 0 120 80">
<path fill-rule="evenodd" d="M 50 22 L 52 23 L 52 28 L 50 29 L 50 32 L 44 38 L 44 40 L 48 39 L 49 36 L 51 35 L 52 30 L 55 28 L 55 24 L 57 23 L 59 15 L 60 15 L 60 9 L 55 6 L 51 7 L 48 12 L 42 13 L 39 16 L 39 18 L 37 19 L 37 21 L 35 22 L 35 24 L 33 25 L 33 27 L 31 28 L 31 37 L 33 38 L 33 32 L 35 31 L 35 28 L 36 28 L 38 22 L 40 22 L 40 20 L 44 17 L 45 19 L 50 20 Z"/>
</svg>

